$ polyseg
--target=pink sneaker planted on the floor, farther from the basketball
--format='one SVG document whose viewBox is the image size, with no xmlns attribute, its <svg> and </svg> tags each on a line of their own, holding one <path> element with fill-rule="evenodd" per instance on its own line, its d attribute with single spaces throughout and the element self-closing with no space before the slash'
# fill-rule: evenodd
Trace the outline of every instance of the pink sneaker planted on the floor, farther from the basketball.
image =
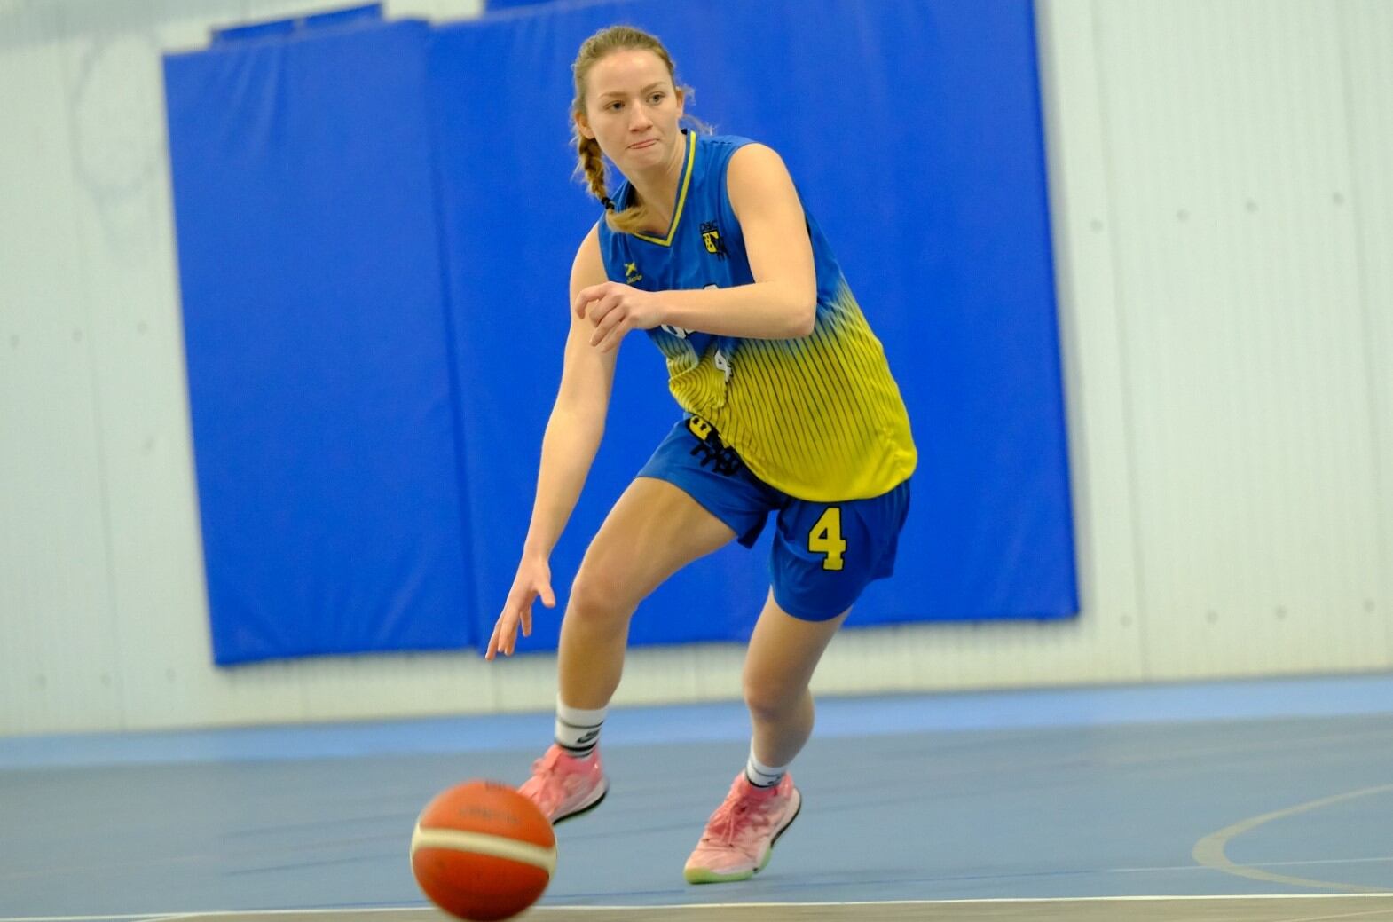
<svg viewBox="0 0 1393 922">
<path fill-rule="evenodd" d="M 696 851 L 687 859 L 687 883 L 748 880 L 769 864 L 775 843 L 798 818 L 802 794 L 784 774 L 773 787 L 755 787 L 741 772 L 726 802 L 706 820 Z"/>
</svg>

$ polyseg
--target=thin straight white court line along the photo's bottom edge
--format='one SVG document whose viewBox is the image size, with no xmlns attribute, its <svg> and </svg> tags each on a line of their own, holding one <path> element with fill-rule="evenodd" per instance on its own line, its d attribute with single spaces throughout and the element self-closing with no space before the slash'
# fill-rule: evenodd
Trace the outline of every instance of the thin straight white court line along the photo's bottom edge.
<svg viewBox="0 0 1393 922">
<path fill-rule="evenodd" d="M 963 905 L 965 903 L 982 905 L 1002 905 L 1014 903 L 1188 903 L 1195 900 L 1378 900 L 1393 897 L 1393 890 L 1387 893 L 1216 893 L 1185 894 L 1185 896 L 1152 896 L 1152 897 L 993 897 L 988 900 L 868 900 L 857 903 L 677 903 L 673 905 L 613 905 L 613 907 L 547 907 L 538 905 L 539 909 L 561 909 L 568 912 L 613 912 L 616 909 L 738 909 L 748 905 L 761 908 L 825 908 L 825 907 L 936 907 Z M 206 919 L 209 916 L 276 916 L 276 915 L 329 915 L 333 912 L 430 912 L 436 909 L 422 905 L 411 907 L 364 907 L 334 909 L 223 909 L 210 912 L 137 912 L 131 915 L 17 915 L 0 916 L 0 922 L 173 922 L 174 919 Z M 1361 914 L 1368 915 L 1368 914 Z M 1341 916 L 1311 916 L 1312 919 L 1341 918 Z"/>
</svg>

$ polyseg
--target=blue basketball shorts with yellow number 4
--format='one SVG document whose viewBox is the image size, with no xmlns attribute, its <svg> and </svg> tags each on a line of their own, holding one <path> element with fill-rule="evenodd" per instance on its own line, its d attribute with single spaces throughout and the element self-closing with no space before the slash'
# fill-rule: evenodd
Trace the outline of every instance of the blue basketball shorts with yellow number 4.
<svg viewBox="0 0 1393 922">
<path fill-rule="evenodd" d="M 678 422 L 638 476 L 667 480 L 730 525 L 751 547 L 769 513 L 777 533 L 769 554 L 775 602 L 805 621 L 841 614 L 873 579 L 894 572 L 910 482 L 869 500 L 811 503 L 756 478 L 703 419 Z"/>
</svg>

